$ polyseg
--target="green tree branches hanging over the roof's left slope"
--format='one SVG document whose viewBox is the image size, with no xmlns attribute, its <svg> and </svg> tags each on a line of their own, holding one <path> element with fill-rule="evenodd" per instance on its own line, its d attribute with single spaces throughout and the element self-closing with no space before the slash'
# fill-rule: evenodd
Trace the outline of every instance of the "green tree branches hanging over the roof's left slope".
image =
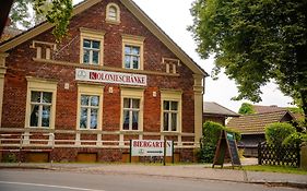
<svg viewBox="0 0 307 191">
<path fill-rule="evenodd" d="M 52 34 L 59 41 L 67 34 L 69 20 L 72 13 L 72 0 L 15 0 L 10 17 L 13 25 L 22 25 L 25 28 L 31 26 L 31 8 L 35 10 L 35 24 L 37 21 L 46 19 L 55 24 Z"/>
</svg>

